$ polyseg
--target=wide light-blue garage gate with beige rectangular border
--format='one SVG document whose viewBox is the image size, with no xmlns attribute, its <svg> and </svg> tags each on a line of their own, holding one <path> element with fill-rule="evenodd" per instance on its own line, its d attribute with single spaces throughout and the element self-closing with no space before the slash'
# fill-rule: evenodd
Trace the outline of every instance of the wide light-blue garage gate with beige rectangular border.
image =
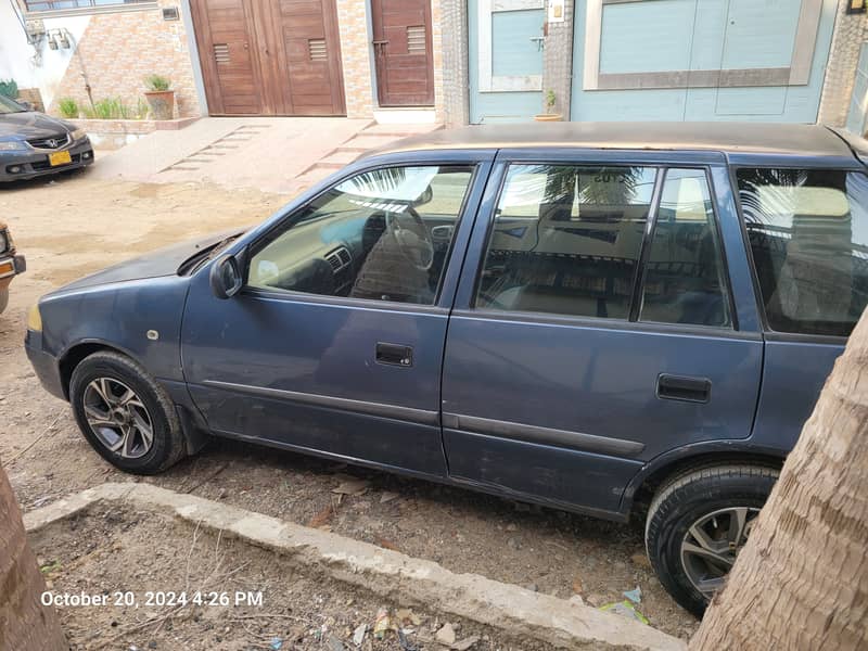
<svg viewBox="0 0 868 651">
<path fill-rule="evenodd" d="M 576 0 L 571 118 L 813 123 L 835 0 Z"/>
</svg>

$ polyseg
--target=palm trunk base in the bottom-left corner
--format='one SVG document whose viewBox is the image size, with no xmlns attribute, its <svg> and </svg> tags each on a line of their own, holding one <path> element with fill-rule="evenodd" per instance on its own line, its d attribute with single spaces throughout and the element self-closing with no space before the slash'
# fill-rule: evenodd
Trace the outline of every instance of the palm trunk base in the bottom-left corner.
<svg viewBox="0 0 868 651">
<path fill-rule="evenodd" d="M 36 565 L 18 503 L 0 467 L 0 649 L 68 649 L 58 615 L 40 602 L 46 582 Z"/>
</svg>

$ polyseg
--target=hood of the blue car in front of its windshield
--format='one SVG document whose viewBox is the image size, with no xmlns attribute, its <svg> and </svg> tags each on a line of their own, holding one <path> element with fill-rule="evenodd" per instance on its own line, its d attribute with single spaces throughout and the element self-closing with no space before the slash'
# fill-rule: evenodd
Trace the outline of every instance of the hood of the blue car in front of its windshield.
<svg viewBox="0 0 868 651">
<path fill-rule="evenodd" d="M 241 231 L 238 229 L 224 231 L 214 233 L 207 238 L 158 248 L 141 257 L 114 265 L 113 267 L 108 267 L 91 276 L 86 276 L 85 278 L 64 285 L 58 290 L 58 292 L 80 290 L 94 285 L 126 282 L 130 280 L 158 278 L 161 276 L 174 276 L 178 273 L 178 268 L 181 264 L 195 255 L 197 251 L 219 244 L 227 238 L 240 234 L 240 232 Z"/>
</svg>

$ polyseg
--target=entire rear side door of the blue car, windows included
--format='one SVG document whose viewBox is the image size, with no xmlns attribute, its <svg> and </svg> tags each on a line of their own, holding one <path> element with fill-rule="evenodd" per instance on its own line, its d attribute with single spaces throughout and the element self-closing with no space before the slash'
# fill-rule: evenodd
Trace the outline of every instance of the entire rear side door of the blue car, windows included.
<svg viewBox="0 0 868 651">
<path fill-rule="evenodd" d="M 617 516 L 649 460 L 750 435 L 763 342 L 720 156 L 502 152 L 489 189 L 444 360 L 454 478 Z"/>
</svg>

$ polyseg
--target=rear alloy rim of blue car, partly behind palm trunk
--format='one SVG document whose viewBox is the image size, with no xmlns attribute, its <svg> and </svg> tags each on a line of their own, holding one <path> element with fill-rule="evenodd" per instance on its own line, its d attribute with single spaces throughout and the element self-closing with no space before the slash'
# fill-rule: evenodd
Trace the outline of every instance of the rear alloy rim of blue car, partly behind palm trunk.
<svg viewBox="0 0 868 651">
<path fill-rule="evenodd" d="M 693 587 L 711 598 L 748 541 L 760 509 L 730 507 L 697 520 L 681 541 L 681 564 Z"/>
</svg>

